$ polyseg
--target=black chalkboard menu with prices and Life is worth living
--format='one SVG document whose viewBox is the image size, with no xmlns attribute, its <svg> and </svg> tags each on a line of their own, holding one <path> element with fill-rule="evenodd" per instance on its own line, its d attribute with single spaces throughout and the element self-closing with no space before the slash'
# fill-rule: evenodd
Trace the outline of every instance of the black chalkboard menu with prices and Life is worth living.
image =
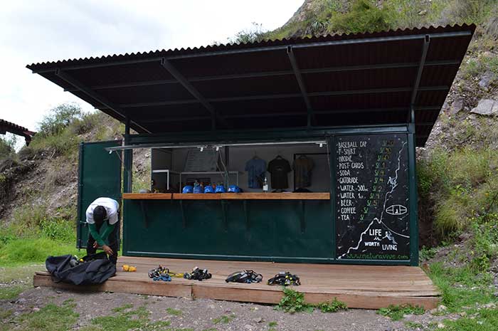
<svg viewBox="0 0 498 331">
<path fill-rule="evenodd" d="M 406 135 L 336 137 L 337 258 L 409 260 Z"/>
</svg>

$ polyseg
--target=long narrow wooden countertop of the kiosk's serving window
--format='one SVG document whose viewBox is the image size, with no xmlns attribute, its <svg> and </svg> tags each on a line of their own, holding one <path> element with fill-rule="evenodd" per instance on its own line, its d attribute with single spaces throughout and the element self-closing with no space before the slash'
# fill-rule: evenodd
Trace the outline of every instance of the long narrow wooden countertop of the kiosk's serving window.
<svg viewBox="0 0 498 331">
<path fill-rule="evenodd" d="M 319 193 L 124 193 L 127 200 L 330 200 L 329 192 Z"/>
</svg>

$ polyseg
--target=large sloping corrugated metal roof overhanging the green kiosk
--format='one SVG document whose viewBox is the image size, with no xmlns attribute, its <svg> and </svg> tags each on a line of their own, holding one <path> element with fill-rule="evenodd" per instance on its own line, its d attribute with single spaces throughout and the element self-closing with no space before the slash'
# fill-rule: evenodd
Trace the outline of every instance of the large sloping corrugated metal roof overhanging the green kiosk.
<svg viewBox="0 0 498 331">
<path fill-rule="evenodd" d="M 423 145 L 474 31 L 474 25 L 431 26 L 27 68 L 118 120 L 129 115 L 138 132 L 209 130 L 212 122 L 218 130 L 400 124 L 413 106 L 417 143 Z M 412 104 L 426 36 L 425 65 Z"/>
</svg>

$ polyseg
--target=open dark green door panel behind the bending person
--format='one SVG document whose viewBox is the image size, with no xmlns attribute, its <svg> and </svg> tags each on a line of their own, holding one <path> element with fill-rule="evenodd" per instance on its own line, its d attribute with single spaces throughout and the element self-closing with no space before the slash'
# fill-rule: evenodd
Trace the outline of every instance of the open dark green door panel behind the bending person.
<svg viewBox="0 0 498 331">
<path fill-rule="evenodd" d="M 121 153 L 109 154 L 105 150 L 120 145 L 121 140 L 80 144 L 77 248 L 86 248 L 88 226 L 85 211 L 92 201 L 100 196 L 121 201 Z"/>
</svg>

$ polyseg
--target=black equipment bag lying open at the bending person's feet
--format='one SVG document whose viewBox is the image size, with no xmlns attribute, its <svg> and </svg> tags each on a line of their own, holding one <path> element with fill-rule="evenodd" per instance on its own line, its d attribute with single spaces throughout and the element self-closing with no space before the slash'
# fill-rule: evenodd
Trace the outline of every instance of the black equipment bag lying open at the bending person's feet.
<svg viewBox="0 0 498 331">
<path fill-rule="evenodd" d="M 48 256 L 45 266 L 56 283 L 75 285 L 101 284 L 116 273 L 116 266 L 104 252 L 85 256 Z"/>
</svg>

